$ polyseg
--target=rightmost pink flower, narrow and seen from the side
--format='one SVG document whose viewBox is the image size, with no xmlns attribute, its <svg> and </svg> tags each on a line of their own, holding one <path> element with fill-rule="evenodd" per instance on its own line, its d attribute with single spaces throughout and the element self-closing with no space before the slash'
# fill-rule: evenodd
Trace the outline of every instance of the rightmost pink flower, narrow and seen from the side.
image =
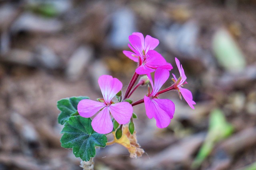
<svg viewBox="0 0 256 170">
<path fill-rule="evenodd" d="M 179 95 L 180 95 L 180 93 L 182 94 L 183 98 L 186 100 L 188 105 L 192 109 L 195 109 L 193 105 L 196 104 L 196 102 L 193 101 L 192 93 L 188 89 L 182 88 L 184 84 L 187 84 L 187 82 L 186 82 L 187 77 L 185 75 L 184 69 L 182 68 L 182 65 L 180 64 L 180 61 L 177 58 L 175 58 L 175 61 L 176 61 L 176 65 L 178 67 L 178 70 L 180 72 L 180 78 L 178 78 L 178 79 L 176 78 L 176 76 L 174 74 L 172 74 L 173 77 L 174 77 L 176 90 L 178 90 Z M 180 95 L 180 98 L 181 98 L 181 95 Z"/>
</svg>

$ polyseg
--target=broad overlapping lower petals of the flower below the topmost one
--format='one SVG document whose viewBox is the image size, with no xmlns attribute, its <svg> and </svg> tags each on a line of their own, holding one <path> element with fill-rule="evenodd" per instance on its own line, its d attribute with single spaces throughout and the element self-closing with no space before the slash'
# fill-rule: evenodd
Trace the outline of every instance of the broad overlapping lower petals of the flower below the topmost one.
<svg viewBox="0 0 256 170">
<path fill-rule="evenodd" d="M 159 128 L 167 127 L 170 119 L 173 118 L 175 106 L 168 99 L 150 99 L 144 96 L 146 114 L 149 118 L 156 119 L 156 126 Z"/>
</svg>

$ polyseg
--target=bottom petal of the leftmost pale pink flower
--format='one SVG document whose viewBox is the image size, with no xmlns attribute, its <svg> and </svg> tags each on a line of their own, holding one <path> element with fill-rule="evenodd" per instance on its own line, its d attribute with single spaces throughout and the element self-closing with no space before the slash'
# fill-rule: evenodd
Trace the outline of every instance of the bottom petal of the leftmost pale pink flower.
<svg viewBox="0 0 256 170">
<path fill-rule="evenodd" d="M 92 129 L 101 134 L 110 133 L 113 130 L 113 123 L 108 107 L 104 107 L 92 120 Z"/>
</svg>

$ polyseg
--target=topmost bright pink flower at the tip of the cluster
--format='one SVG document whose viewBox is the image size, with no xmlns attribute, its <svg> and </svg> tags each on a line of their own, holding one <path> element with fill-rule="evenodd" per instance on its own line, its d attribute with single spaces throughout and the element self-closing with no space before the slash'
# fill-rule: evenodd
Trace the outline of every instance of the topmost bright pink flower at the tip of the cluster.
<svg viewBox="0 0 256 170">
<path fill-rule="evenodd" d="M 153 49 L 158 46 L 159 41 L 156 38 L 147 35 L 144 39 L 142 33 L 132 33 L 129 36 L 128 47 L 133 51 L 123 51 L 129 59 L 137 62 L 139 64 L 135 72 L 137 74 L 148 74 L 154 72 L 156 68 L 166 68 L 168 70 L 172 69 L 172 65 L 167 63 L 164 57 Z"/>
</svg>

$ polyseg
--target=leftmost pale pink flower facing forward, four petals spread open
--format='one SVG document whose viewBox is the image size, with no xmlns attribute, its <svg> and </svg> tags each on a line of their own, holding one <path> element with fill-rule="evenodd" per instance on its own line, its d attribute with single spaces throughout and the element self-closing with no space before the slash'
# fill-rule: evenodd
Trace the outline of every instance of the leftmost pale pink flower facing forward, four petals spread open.
<svg viewBox="0 0 256 170">
<path fill-rule="evenodd" d="M 84 99 L 78 103 L 77 108 L 80 116 L 87 118 L 100 111 L 92 120 L 92 128 L 98 133 L 107 134 L 113 129 L 110 113 L 119 124 L 126 124 L 130 121 L 133 109 L 128 102 L 112 102 L 112 98 L 122 89 L 120 80 L 103 75 L 98 79 L 98 83 L 104 102 Z"/>
</svg>

